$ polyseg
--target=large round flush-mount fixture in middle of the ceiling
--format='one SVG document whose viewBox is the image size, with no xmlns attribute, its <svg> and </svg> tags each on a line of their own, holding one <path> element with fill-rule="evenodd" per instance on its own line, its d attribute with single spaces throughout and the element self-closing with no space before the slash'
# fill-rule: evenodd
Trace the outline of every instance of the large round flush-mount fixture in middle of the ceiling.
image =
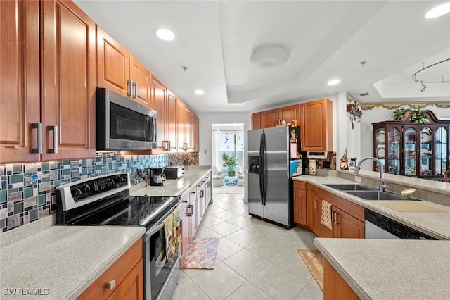
<svg viewBox="0 0 450 300">
<path fill-rule="evenodd" d="M 276 68 L 289 58 L 289 51 L 283 46 L 269 46 L 253 51 L 250 63 L 259 68 Z"/>
</svg>

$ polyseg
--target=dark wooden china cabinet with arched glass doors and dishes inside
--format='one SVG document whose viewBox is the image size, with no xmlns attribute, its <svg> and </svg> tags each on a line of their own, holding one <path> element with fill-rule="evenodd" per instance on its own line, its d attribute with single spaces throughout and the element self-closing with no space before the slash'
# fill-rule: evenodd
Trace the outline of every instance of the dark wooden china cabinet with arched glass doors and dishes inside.
<svg viewBox="0 0 450 300">
<path fill-rule="evenodd" d="M 373 156 L 383 163 L 385 173 L 441 179 L 449 164 L 450 121 L 423 111 L 426 124 L 416 124 L 409 111 L 398 121 L 373 123 Z M 374 164 L 374 170 L 378 165 Z"/>
</svg>

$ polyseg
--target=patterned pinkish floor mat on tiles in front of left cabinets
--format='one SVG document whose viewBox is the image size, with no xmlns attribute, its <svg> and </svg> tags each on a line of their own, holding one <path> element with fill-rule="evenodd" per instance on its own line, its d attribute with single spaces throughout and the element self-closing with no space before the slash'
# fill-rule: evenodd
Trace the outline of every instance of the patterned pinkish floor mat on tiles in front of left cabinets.
<svg viewBox="0 0 450 300">
<path fill-rule="evenodd" d="M 194 237 L 184 255 L 181 268 L 213 269 L 216 261 L 217 237 Z"/>
</svg>

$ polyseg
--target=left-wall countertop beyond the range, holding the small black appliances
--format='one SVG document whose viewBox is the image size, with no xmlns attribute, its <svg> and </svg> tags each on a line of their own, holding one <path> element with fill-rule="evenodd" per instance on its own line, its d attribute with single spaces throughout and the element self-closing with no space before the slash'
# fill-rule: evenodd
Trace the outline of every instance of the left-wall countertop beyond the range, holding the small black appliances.
<svg viewBox="0 0 450 300">
<path fill-rule="evenodd" d="M 193 187 L 203 176 L 210 172 L 207 166 L 189 166 L 184 169 L 183 177 L 179 179 L 167 179 L 164 185 L 145 187 L 144 183 L 131 187 L 131 196 L 181 196 L 190 187 Z"/>
</svg>

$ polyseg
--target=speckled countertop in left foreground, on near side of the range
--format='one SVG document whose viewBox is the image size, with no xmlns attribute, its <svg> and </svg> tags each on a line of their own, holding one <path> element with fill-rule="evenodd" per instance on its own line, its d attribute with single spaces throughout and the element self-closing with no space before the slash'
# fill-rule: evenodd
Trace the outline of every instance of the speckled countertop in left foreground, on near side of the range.
<svg viewBox="0 0 450 300">
<path fill-rule="evenodd" d="M 54 223 L 44 218 L 0 235 L 1 299 L 76 299 L 145 233 L 144 227 Z M 23 292 L 11 296 L 7 289 Z M 40 289 L 41 296 L 26 289 Z"/>
</svg>

